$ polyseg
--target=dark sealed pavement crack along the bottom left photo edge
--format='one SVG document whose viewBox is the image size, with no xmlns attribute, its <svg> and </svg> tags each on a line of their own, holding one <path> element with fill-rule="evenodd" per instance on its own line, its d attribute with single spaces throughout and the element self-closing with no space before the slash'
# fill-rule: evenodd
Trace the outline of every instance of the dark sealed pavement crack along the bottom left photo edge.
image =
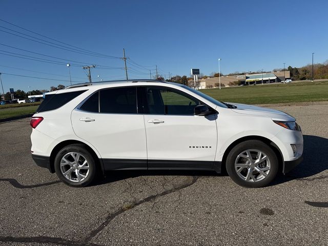
<svg viewBox="0 0 328 246">
<path fill-rule="evenodd" d="M 0 242 L 53 243 L 64 246 L 100 246 L 90 242 L 71 241 L 60 237 L 0 237 Z"/>
</svg>

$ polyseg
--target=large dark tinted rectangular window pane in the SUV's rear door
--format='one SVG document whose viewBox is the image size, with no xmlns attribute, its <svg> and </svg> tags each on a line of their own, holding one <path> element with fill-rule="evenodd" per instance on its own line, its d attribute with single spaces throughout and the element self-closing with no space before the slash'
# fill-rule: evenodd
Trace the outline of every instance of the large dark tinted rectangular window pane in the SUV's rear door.
<svg viewBox="0 0 328 246">
<path fill-rule="evenodd" d="M 100 113 L 137 113 L 136 87 L 100 91 Z"/>
</svg>

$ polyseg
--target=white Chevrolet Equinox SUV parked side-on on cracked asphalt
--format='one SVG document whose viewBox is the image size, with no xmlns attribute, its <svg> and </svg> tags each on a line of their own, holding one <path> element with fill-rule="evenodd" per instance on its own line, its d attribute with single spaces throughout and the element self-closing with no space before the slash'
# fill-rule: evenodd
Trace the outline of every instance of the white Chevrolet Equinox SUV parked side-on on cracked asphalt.
<svg viewBox="0 0 328 246">
<path fill-rule="evenodd" d="M 31 118 L 32 157 L 71 186 L 108 170 L 227 170 L 244 187 L 268 185 L 302 160 L 292 116 L 228 104 L 187 86 L 125 80 L 46 94 Z"/>
</svg>

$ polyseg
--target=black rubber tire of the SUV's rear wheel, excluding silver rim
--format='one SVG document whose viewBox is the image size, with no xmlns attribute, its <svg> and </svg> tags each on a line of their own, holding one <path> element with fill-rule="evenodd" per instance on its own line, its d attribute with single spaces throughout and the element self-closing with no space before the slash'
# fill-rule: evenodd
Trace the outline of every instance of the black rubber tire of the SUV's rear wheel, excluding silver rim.
<svg viewBox="0 0 328 246">
<path fill-rule="evenodd" d="M 89 171 L 86 178 L 84 178 L 81 181 L 71 181 L 70 179 L 66 178 L 63 175 L 63 173 L 60 169 L 61 159 L 65 155 L 67 155 L 71 152 L 80 154 L 82 156 L 80 158 L 81 159 L 80 161 L 87 160 L 87 162 L 88 162 L 88 166 L 89 166 L 88 170 L 82 170 L 82 168 L 81 168 L 81 172 L 82 171 L 84 171 L 84 172 Z M 75 162 L 73 162 L 73 163 L 75 165 Z M 94 178 L 96 176 L 96 172 L 97 172 L 97 165 L 96 165 L 95 159 L 92 156 L 92 154 L 87 150 L 86 146 L 83 145 L 83 144 L 68 145 L 68 146 L 64 147 L 63 149 L 61 149 L 55 157 L 54 168 L 55 168 L 55 171 L 56 171 L 56 174 L 57 174 L 58 178 L 61 181 L 63 181 L 64 183 L 66 183 L 67 185 L 72 186 L 72 187 L 86 187 L 86 186 L 90 185 L 90 183 L 94 180 Z M 68 170 L 68 169 L 70 169 L 70 165 L 67 165 L 64 168 L 66 168 Z M 74 168 L 77 169 L 77 167 L 74 167 Z M 75 169 L 74 169 L 74 171 L 71 171 L 71 172 L 72 172 L 71 176 L 73 176 L 72 178 L 74 178 L 74 176 L 75 176 L 75 178 L 77 179 L 77 175 L 75 174 Z"/>
</svg>

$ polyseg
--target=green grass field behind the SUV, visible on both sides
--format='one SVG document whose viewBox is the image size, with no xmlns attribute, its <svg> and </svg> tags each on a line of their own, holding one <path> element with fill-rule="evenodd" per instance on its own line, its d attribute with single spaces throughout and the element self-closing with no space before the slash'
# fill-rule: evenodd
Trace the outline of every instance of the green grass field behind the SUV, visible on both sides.
<svg viewBox="0 0 328 246">
<path fill-rule="evenodd" d="M 279 104 L 328 101 L 328 81 L 299 82 L 206 89 L 201 92 L 219 100 L 241 104 Z M 40 103 L 0 106 L 0 119 L 34 113 Z"/>
</svg>

